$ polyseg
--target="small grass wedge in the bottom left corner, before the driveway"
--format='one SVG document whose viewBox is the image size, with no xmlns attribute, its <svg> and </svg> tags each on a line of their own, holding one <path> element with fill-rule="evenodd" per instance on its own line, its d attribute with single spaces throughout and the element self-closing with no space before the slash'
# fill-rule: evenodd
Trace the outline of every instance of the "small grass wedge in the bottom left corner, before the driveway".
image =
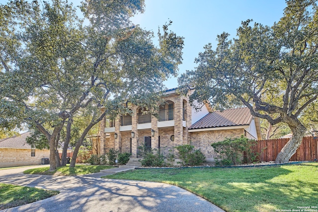
<svg viewBox="0 0 318 212">
<path fill-rule="evenodd" d="M 0 210 L 44 200 L 59 193 L 58 191 L 0 183 Z"/>
</svg>

